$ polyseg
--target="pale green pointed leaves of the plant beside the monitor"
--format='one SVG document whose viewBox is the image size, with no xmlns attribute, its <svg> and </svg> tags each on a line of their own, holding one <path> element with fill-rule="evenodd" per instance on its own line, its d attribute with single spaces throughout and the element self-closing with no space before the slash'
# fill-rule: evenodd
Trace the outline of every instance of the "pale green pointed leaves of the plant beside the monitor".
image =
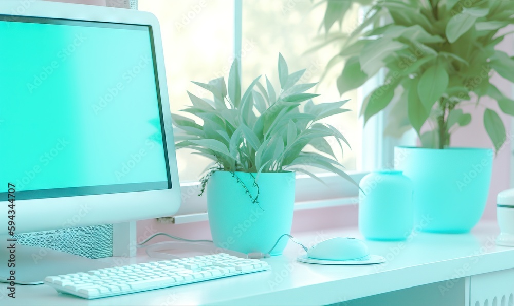
<svg viewBox="0 0 514 306">
<path fill-rule="evenodd" d="M 350 145 L 335 127 L 320 122 L 348 111 L 341 108 L 346 101 L 314 104 L 311 99 L 318 94 L 305 91 L 316 83 L 297 84 L 305 69 L 289 74 L 281 54 L 278 68 L 279 91 L 273 89 L 267 77 L 262 85 L 261 76 L 243 91 L 237 60 L 231 66 L 228 86 L 224 78 L 207 84 L 193 82 L 210 91 L 213 100 L 188 92 L 192 107 L 183 111 L 199 120 L 172 114 L 174 125 L 185 132 L 175 137 L 176 148 L 194 149 L 196 154 L 215 162 L 214 170 L 257 175 L 292 170 L 318 179 L 309 171 L 317 167 L 351 180 L 325 138 L 336 139 L 341 151 L 342 142 Z M 315 150 L 307 151 L 307 146 Z M 203 187 L 205 182 L 204 178 Z"/>
</svg>

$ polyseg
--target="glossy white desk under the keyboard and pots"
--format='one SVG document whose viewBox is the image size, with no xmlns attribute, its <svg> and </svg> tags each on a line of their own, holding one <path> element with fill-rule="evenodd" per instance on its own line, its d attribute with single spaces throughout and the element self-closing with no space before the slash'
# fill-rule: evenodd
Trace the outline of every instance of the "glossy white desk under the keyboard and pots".
<svg viewBox="0 0 514 306">
<path fill-rule="evenodd" d="M 97 300 L 58 295 L 47 285 L 17 285 L 16 299 L 12 299 L 6 296 L 6 284 L 0 284 L 0 304 L 372 305 L 379 300 L 381 305 L 475 306 L 476 301 L 483 305 L 485 298 L 491 305 L 495 296 L 500 305 L 502 295 L 506 295 L 508 305 L 509 295 L 514 293 L 514 247 L 495 245 L 498 233 L 495 223 L 484 223 L 471 234 L 417 233 L 403 244 L 368 241 L 372 254 L 388 260 L 368 266 L 300 263 L 295 258 L 303 250 L 290 242 L 284 255 L 265 259 L 272 266 L 266 272 Z M 334 236 L 361 238 L 356 228 L 296 236 L 307 244 Z M 142 254 L 137 260 L 149 259 Z M 374 297 L 360 299 L 369 296 Z M 345 302 L 354 299 L 360 300 Z"/>
</svg>

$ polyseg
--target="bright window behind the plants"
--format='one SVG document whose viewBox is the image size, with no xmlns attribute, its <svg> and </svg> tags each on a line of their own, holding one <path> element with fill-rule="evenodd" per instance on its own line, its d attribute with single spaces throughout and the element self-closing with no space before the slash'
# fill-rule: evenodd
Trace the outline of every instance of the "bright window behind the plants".
<svg viewBox="0 0 514 306">
<path fill-rule="evenodd" d="M 278 84 L 279 52 L 284 55 L 290 72 L 307 68 L 301 80 L 304 83 L 318 82 L 328 61 L 337 54 L 333 46 L 307 52 L 324 40 L 319 29 L 325 4 L 318 5 L 311 0 L 139 0 L 139 9 L 154 13 L 161 23 L 172 112 L 190 105 L 186 90 L 200 97 L 209 97 L 209 92 L 190 81 L 207 83 L 220 76 L 227 78 L 234 54 L 241 58 L 243 88 L 260 74 L 266 74 L 273 84 Z M 354 18 L 345 20 L 343 30 L 350 32 L 358 24 L 359 9 L 354 8 L 354 12 Z M 353 111 L 333 116 L 327 123 L 337 127 L 350 142 L 352 149 L 344 148 L 340 162 L 359 180 L 362 170 L 383 164 L 382 159 L 376 158 L 381 156 L 382 149 L 377 144 L 381 146 L 383 143 L 379 143 L 383 129 L 380 118 L 362 129 L 358 116 L 361 97 L 364 97 L 362 90 L 339 96 L 336 78 L 343 64 L 333 67 L 310 92 L 321 94 L 318 102 L 350 99 L 345 107 Z M 195 185 L 210 160 L 190 153 L 186 149 L 177 151 L 184 194 L 180 214 L 205 211 L 205 204 L 202 204 L 205 199 L 196 197 Z M 334 198 L 357 193 L 355 187 L 342 186 L 345 181 L 340 178 L 326 176 L 329 187 L 309 179 L 298 181 L 305 188 L 297 189 L 307 192 L 300 199 L 297 193 L 297 201 L 333 201 Z"/>
</svg>

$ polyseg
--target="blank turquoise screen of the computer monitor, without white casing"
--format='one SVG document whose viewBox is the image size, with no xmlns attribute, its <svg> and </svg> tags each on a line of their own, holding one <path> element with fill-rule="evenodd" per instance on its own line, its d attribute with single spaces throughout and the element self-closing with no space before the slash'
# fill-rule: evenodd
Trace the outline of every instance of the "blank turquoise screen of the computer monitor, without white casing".
<svg viewBox="0 0 514 306">
<path fill-rule="evenodd" d="M 0 192 L 171 187 L 155 69 L 147 26 L 0 19 Z"/>
</svg>

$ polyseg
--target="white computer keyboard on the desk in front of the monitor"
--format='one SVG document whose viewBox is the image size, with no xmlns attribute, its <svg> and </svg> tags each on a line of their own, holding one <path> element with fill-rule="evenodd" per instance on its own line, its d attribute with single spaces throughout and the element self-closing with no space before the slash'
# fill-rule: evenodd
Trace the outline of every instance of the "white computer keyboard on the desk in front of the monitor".
<svg viewBox="0 0 514 306">
<path fill-rule="evenodd" d="M 269 269 L 265 261 L 221 253 L 48 276 L 44 283 L 61 293 L 96 299 Z"/>
</svg>

